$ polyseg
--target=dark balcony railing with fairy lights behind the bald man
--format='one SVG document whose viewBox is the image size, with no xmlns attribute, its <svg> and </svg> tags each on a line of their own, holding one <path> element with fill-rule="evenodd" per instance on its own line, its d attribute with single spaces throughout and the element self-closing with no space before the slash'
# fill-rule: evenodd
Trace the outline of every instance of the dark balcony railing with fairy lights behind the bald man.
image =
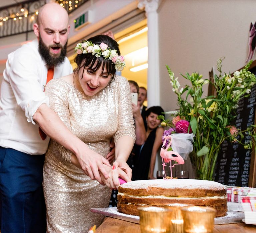
<svg viewBox="0 0 256 233">
<path fill-rule="evenodd" d="M 56 0 L 68 13 L 71 13 L 89 0 Z M 28 0 L 5 7 L 0 7 L 0 38 L 33 31 L 33 24 L 41 6 L 46 0 Z"/>
</svg>

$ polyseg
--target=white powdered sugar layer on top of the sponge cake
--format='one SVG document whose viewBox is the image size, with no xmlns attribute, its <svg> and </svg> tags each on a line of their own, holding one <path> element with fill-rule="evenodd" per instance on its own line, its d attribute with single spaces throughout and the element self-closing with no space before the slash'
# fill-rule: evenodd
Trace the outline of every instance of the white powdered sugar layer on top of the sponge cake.
<svg viewBox="0 0 256 233">
<path fill-rule="evenodd" d="M 123 188 L 130 189 L 147 189 L 149 187 L 156 188 L 184 188 L 184 189 L 208 189 L 222 190 L 226 187 L 220 183 L 209 180 L 194 180 L 194 179 L 157 179 L 157 180 L 136 180 L 127 182 L 121 185 Z"/>
</svg>

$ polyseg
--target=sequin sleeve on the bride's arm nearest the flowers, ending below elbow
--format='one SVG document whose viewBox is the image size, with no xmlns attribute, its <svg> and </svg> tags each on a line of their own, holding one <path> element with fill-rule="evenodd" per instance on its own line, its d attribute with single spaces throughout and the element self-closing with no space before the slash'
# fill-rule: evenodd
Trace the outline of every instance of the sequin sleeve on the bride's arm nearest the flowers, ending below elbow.
<svg viewBox="0 0 256 233">
<path fill-rule="evenodd" d="M 118 128 L 114 140 L 116 143 L 118 138 L 128 135 L 135 142 L 130 86 L 124 77 L 117 76 L 116 79 L 118 79 Z"/>
</svg>

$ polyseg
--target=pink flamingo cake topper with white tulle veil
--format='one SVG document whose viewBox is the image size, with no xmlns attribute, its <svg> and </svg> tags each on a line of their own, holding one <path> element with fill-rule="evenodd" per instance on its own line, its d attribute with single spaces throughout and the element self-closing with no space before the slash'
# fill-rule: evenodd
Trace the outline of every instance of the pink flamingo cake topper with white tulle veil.
<svg viewBox="0 0 256 233">
<path fill-rule="evenodd" d="M 183 135 L 181 135 L 181 134 L 184 134 L 185 138 L 184 137 L 182 138 Z M 182 144 L 182 146 L 172 145 L 173 138 L 176 138 L 177 140 L 179 140 L 180 143 L 176 142 L 176 144 Z M 162 162 L 163 162 L 162 165 L 163 165 L 164 179 L 165 179 L 166 175 L 165 175 L 164 167 L 166 166 L 166 163 L 170 162 L 169 167 L 170 167 L 170 170 L 171 170 L 171 178 L 172 178 L 172 168 L 175 165 L 184 164 L 184 159 L 178 152 L 181 151 L 182 154 L 188 154 L 193 150 L 193 145 L 192 145 L 193 134 L 192 133 L 170 134 L 168 136 L 165 135 L 163 137 L 163 139 L 164 139 L 164 142 L 163 142 L 163 145 L 162 145 L 161 150 L 160 150 L 160 156 L 162 157 Z M 169 143 L 168 143 L 167 146 L 165 146 L 166 141 L 168 139 L 169 139 Z M 172 145 L 172 147 L 171 147 L 171 145 Z M 168 150 L 170 147 L 172 149 L 176 148 L 176 151 Z M 187 156 L 185 156 L 185 157 L 187 157 Z M 176 162 L 173 165 L 172 165 L 172 160 Z"/>
</svg>

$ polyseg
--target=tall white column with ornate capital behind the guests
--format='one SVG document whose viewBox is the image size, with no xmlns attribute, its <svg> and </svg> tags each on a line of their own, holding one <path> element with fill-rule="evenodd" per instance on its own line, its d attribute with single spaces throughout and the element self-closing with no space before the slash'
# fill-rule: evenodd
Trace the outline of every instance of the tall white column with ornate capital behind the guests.
<svg viewBox="0 0 256 233">
<path fill-rule="evenodd" d="M 160 105 L 158 9 L 159 0 L 139 0 L 138 8 L 145 8 L 148 19 L 148 107 Z"/>
</svg>

